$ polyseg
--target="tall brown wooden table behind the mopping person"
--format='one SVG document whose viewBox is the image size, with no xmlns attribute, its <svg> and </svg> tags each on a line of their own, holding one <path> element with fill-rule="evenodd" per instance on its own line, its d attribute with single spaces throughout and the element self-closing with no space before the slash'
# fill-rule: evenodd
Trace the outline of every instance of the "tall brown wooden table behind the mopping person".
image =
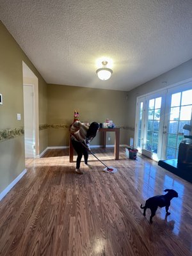
<svg viewBox="0 0 192 256">
<path fill-rule="evenodd" d="M 114 157 L 115 160 L 119 159 L 119 141 L 120 141 L 120 128 L 99 128 L 99 132 L 102 132 L 102 148 L 106 148 L 106 133 L 115 132 L 115 148 Z M 74 148 L 69 138 L 69 162 L 74 161 Z"/>
</svg>

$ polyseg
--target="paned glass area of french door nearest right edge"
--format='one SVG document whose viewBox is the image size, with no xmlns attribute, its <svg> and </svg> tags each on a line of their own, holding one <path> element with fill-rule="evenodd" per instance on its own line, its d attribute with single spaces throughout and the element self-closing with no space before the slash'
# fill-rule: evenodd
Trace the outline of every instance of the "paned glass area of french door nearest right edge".
<svg viewBox="0 0 192 256">
<path fill-rule="evenodd" d="M 166 159 L 176 159 L 180 141 L 189 131 L 182 129 L 191 122 L 192 90 L 177 92 L 171 95 L 171 106 L 168 120 Z"/>
</svg>

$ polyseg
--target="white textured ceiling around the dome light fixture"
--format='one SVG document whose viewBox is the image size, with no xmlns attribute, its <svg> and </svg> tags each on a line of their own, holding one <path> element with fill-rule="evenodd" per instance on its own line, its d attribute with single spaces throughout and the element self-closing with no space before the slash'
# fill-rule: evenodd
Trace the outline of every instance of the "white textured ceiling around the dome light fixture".
<svg viewBox="0 0 192 256">
<path fill-rule="evenodd" d="M 192 58 L 191 0 L 0 0 L 0 6 L 2 22 L 47 83 L 129 91 Z M 95 72 L 103 56 L 112 60 L 108 81 Z"/>
</svg>

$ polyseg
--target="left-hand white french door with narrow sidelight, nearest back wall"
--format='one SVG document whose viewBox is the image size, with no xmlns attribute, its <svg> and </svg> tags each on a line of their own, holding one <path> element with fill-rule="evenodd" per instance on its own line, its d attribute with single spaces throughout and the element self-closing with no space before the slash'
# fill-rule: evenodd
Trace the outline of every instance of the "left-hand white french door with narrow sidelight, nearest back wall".
<svg viewBox="0 0 192 256">
<path fill-rule="evenodd" d="M 138 100 L 136 147 L 152 159 L 161 157 L 165 93 L 156 93 Z"/>
</svg>

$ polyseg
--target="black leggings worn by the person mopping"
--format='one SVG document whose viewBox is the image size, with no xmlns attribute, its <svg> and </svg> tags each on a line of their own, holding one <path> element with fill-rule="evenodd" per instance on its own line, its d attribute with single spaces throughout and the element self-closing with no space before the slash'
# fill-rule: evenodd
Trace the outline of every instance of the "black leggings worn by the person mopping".
<svg viewBox="0 0 192 256">
<path fill-rule="evenodd" d="M 76 168 L 79 169 L 82 156 L 84 156 L 84 163 L 87 164 L 88 151 L 85 148 L 86 145 L 85 145 L 84 141 L 82 143 L 85 147 L 81 144 L 81 142 L 76 141 L 74 139 L 71 139 L 71 143 L 72 143 L 74 150 L 76 150 L 76 152 L 77 152 Z"/>
</svg>

